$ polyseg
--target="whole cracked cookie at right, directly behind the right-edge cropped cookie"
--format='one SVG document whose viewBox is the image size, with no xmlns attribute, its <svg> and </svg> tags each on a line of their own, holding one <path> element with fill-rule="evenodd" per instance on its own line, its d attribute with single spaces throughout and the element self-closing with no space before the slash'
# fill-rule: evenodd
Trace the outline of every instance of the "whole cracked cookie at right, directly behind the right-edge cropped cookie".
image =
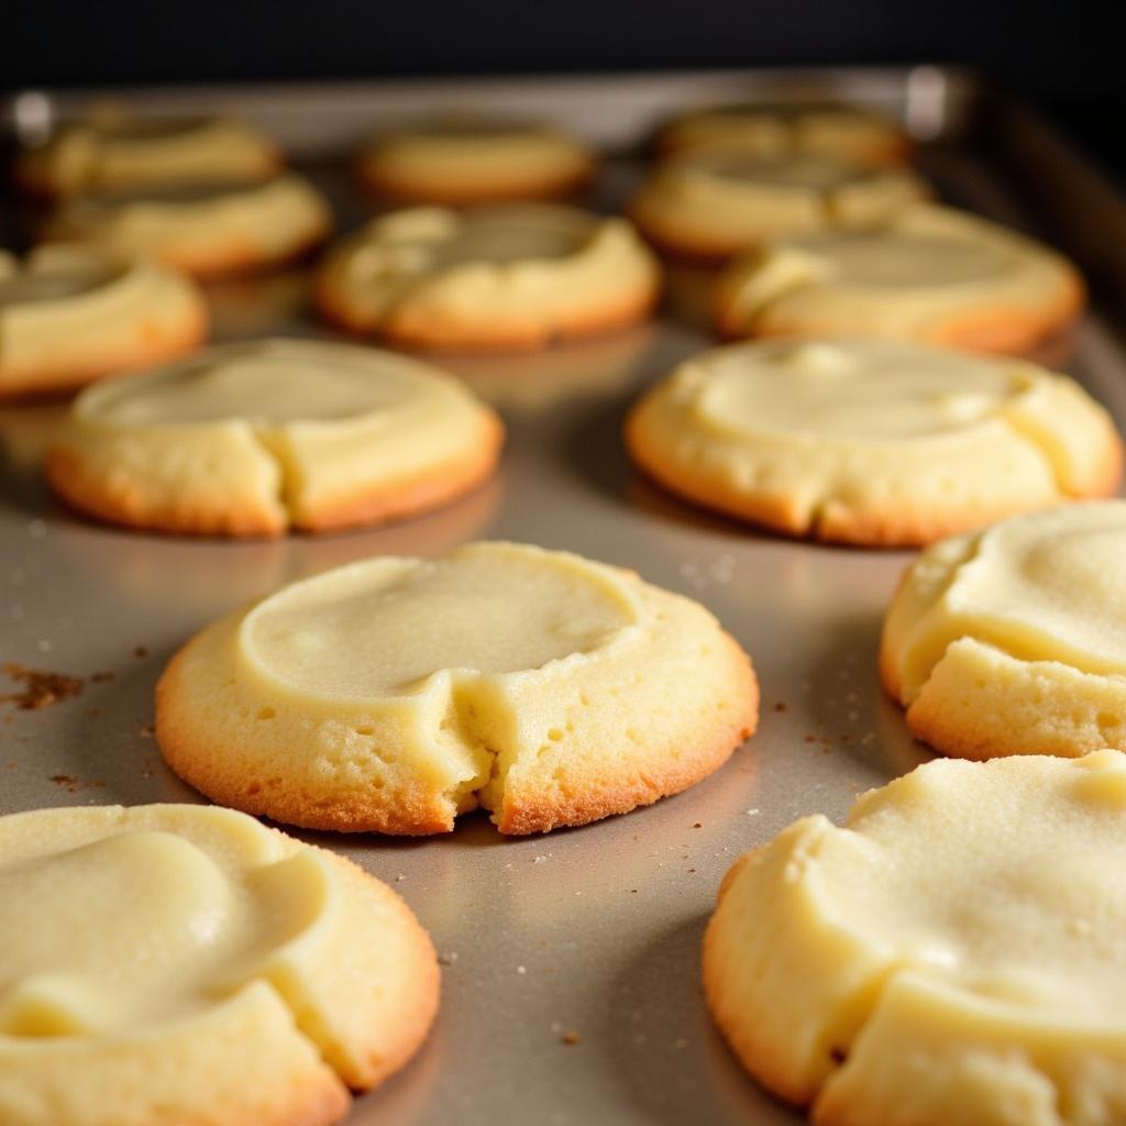
<svg viewBox="0 0 1126 1126">
<path fill-rule="evenodd" d="M 787 535 L 927 544 L 1105 497 L 1123 448 L 1065 375 L 906 340 L 715 348 L 650 390 L 626 445 L 674 493 Z"/>
</svg>

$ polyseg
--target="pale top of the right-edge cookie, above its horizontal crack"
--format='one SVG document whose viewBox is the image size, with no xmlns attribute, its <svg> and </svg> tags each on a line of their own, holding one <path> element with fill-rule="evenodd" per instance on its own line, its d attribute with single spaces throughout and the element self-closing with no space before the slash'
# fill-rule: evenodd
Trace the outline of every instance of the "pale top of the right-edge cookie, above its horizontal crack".
<svg viewBox="0 0 1126 1126">
<path fill-rule="evenodd" d="M 937 544 L 888 615 L 884 660 L 910 703 L 951 643 L 1126 677 L 1126 501 L 1013 517 Z"/>
</svg>

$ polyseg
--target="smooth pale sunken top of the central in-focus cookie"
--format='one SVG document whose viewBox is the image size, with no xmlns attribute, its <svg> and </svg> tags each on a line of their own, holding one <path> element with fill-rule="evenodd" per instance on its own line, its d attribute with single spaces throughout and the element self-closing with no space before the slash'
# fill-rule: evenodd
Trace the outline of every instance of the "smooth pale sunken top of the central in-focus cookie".
<svg viewBox="0 0 1126 1126">
<path fill-rule="evenodd" d="M 245 619 L 263 672 L 327 699 L 428 690 L 436 674 L 504 677 L 589 661 L 642 620 L 615 573 L 577 555 L 477 544 L 382 558 L 298 583 Z"/>
</svg>

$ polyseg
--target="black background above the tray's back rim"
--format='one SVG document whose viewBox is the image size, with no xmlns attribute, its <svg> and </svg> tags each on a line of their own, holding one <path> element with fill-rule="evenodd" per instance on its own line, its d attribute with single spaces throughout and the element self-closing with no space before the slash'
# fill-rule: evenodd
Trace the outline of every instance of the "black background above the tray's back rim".
<svg viewBox="0 0 1126 1126">
<path fill-rule="evenodd" d="M 1126 0 L 8 0 L 5 8 L 0 83 L 9 89 L 959 63 L 1033 101 L 1126 178 Z"/>
</svg>

